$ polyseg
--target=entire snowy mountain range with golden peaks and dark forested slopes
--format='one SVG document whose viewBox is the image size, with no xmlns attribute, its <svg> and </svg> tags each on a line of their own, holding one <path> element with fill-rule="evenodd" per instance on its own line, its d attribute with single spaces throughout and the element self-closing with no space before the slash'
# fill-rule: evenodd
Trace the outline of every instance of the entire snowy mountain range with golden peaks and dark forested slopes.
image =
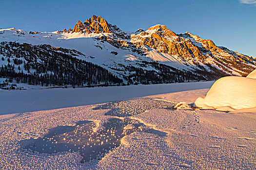
<svg viewBox="0 0 256 170">
<path fill-rule="evenodd" d="M 0 29 L 0 58 L 1 78 L 41 85 L 206 81 L 256 68 L 255 58 L 188 32 L 124 32 L 97 16 L 52 33 Z"/>
</svg>

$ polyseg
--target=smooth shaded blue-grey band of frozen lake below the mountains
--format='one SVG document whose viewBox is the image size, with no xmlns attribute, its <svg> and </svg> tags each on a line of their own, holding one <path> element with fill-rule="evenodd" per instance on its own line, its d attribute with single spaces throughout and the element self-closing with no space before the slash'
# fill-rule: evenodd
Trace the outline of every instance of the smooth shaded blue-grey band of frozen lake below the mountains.
<svg viewBox="0 0 256 170">
<path fill-rule="evenodd" d="M 0 90 L 0 115 L 49 110 L 210 88 L 214 82 L 94 88 Z"/>
</svg>

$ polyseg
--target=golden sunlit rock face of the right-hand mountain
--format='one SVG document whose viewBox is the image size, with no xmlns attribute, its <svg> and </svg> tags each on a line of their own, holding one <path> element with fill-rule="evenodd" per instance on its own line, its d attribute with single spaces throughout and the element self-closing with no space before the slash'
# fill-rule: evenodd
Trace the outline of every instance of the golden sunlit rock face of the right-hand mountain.
<svg viewBox="0 0 256 170">
<path fill-rule="evenodd" d="M 165 25 L 155 25 L 144 32 L 136 32 L 136 34 L 131 35 L 131 42 L 137 47 L 147 46 L 158 52 L 176 56 L 192 65 L 197 65 L 198 62 L 207 65 L 211 63 L 210 60 L 215 60 L 214 62 L 219 67 L 222 67 L 223 64 L 235 67 L 238 62 L 254 60 L 225 47 L 218 47 L 210 39 L 203 39 L 189 32 L 176 34 Z M 226 68 L 223 69 L 229 71 Z M 243 68 L 243 70 L 246 69 L 247 67 Z"/>
</svg>

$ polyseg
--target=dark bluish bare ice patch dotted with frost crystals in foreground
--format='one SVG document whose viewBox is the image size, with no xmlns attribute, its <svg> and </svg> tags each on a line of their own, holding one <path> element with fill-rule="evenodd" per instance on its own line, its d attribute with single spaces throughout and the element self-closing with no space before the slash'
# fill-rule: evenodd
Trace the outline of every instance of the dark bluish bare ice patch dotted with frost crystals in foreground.
<svg viewBox="0 0 256 170">
<path fill-rule="evenodd" d="M 125 135 L 138 131 L 158 133 L 134 119 L 110 119 L 102 129 L 94 132 L 96 126 L 93 121 L 81 121 L 75 126 L 59 126 L 50 129 L 42 138 L 22 141 L 22 150 L 32 154 L 78 152 L 83 157 L 81 163 L 85 163 L 100 160 L 118 147 Z"/>
</svg>

